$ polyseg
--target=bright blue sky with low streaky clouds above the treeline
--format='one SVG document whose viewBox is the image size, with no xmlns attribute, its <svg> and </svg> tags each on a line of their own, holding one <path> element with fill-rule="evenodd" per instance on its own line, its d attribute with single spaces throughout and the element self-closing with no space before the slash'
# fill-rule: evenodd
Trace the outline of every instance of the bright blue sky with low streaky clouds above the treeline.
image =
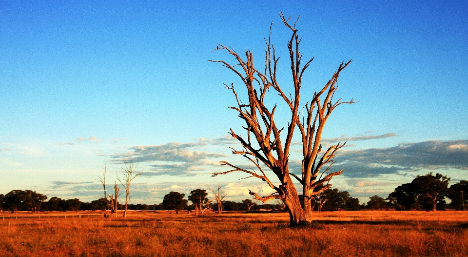
<svg viewBox="0 0 468 257">
<path fill-rule="evenodd" d="M 207 60 L 233 61 L 212 51 L 221 43 L 260 65 L 273 21 L 292 92 L 278 11 L 301 15 L 301 52 L 315 57 L 304 101 L 353 60 L 337 94 L 359 103 L 336 109 L 323 135 L 348 141 L 333 186 L 363 202 L 428 172 L 468 179 L 466 1 L 0 1 L 0 193 L 90 201 L 105 163 L 112 184 L 135 159 L 134 203 L 207 184 L 233 200 L 268 194 L 243 174 L 209 176 L 220 160 L 243 160 L 228 148 L 242 120 L 223 86 L 240 81 Z"/>
</svg>

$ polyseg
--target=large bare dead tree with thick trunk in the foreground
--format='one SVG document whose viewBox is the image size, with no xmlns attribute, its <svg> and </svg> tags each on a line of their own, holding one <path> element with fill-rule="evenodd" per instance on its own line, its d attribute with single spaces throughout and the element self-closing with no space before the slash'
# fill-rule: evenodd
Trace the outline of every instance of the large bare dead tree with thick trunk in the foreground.
<svg viewBox="0 0 468 257">
<path fill-rule="evenodd" d="M 224 67 L 227 67 L 242 80 L 243 85 L 247 89 L 248 101 L 242 102 L 237 96 L 234 89 L 234 84 L 227 85 L 226 88 L 234 93 L 237 101 L 237 106 L 230 107 L 237 111 L 238 116 L 245 121 L 246 137 L 241 137 L 235 134 L 231 129 L 230 134 L 236 138 L 242 145 L 241 150 L 233 150 L 233 154 L 242 155 L 247 158 L 258 171 L 241 168 L 227 161 L 221 161 L 220 165 L 229 166 L 231 169 L 225 172 L 213 173 L 213 177 L 220 174 L 231 172 L 244 172 L 249 174 L 247 178 L 254 177 L 265 181 L 275 193 L 269 196 L 259 196 L 257 193 L 249 190 L 249 194 L 254 196 L 254 199 L 262 202 L 279 199 L 287 206 L 290 213 L 291 225 L 298 225 L 303 222 L 312 220 L 312 199 L 319 195 L 322 191 L 327 190 L 331 184 L 329 181 L 332 177 L 340 175 L 342 169 L 331 172 L 331 165 L 334 163 L 333 158 L 336 152 L 342 148 L 345 143 L 331 145 L 324 152 L 320 140 L 327 119 L 335 108 L 343 103 L 354 103 L 351 101 L 334 100 L 333 96 L 338 89 L 338 77 L 346 68 L 351 60 L 342 62 L 338 69 L 331 76 L 331 79 L 325 83 L 320 91 L 315 92 L 312 98 L 305 105 L 299 103 L 301 97 L 302 76 L 306 69 L 311 64 L 312 59 L 309 59 L 303 67 L 301 67 L 302 54 L 299 52 L 299 38 L 296 29 L 297 20 L 294 24 L 290 24 L 290 19 L 286 19 L 280 13 L 281 20 L 284 25 L 292 32 L 292 36 L 288 42 L 288 50 L 291 61 L 292 82 L 294 92 L 287 94 L 281 89 L 277 80 L 277 65 L 279 58 L 275 55 L 275 49 L 271 43 L 271 28 L 268 40 L 265 39 L 265 66 L 261 69 L 254 67 L 254 57 L 252 52 L 245 52 L 245 60 L 237 54 L 232 47 L 219 44 L 215 50 L 224 50 L 232 55 L 235 59 L 235 64 L 231 65 L 223 60 L 212 60 L 220 62 Z M 298 18 L 299 19 L 299 18 Z M 273 25 L 273 23 L 272 23 Z M 275 92 L 284 100 L 286 106 L 291 111 L 291 119 L 289 119 L 285 127 L 280 126 L 275 122 L 274 115 L 276 105 L 273 108 L 266 106 L 266 96 L 269 92 Z M 301 107 L 302 106 L 302 107 Z M 300 175 L 295 175 L 289 170 L 289 158 L 291 151 L 292 136 L 295 128 L 299 130 L 302 141 L 302 169 Z M 285 135 L 286 134 L 286 135 Z M 276 176 L 280 184 L 277 185 L 267 176 L 267 171 L 264 167 L 271 170 Z M 271 175 L 269 175 L 271 176 Z M 301 187 L 304 195 L 304 208 L 301 207 L 299 196 L 292 178 L 296 179 Z M 318 187 L 323 185 L 323 187 Z"/>
</svg>

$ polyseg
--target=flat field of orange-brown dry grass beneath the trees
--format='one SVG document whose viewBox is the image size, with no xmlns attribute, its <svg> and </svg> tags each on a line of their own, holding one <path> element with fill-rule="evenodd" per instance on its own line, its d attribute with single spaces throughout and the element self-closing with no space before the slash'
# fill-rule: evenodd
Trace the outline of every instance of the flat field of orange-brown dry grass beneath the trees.
<svg viewBox="0 0 468 257">
<path fill-rule="evenodd" d="M 1 256 L 467 256 L 468 212 L 0 214 Z"/>
</svg>

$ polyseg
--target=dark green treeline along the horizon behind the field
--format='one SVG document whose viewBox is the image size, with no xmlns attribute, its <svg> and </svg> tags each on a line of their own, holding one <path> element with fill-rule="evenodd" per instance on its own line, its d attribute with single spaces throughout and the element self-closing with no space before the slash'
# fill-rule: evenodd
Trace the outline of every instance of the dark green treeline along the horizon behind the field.
<svg viewBox="0 0 468 257">
<path fill-rule="evenodd" d="M 327 189 L 312 201 L 312 208 L 316 211 L 337 211 L 350 210 L 358 211 L 361 209 L 382 210 L 465 210 L 467 209 L 468 181 L 461 180 L 459 183 L 448 187 L 450 178 L 432 173 L 425 176 L 417 176 L 410 183 L 402 184 L 395 188 L 387 198 L 379 196 L 370 197 L 365 204 L 359 203 L 358 198 L 352 198 L 347 191 L 338 189 Z M 319 188 L 318 188 L 319 189 Z M 192 203 L 195 192 L 203 193 L 203 202 L 206 202 L 209 209 L 217 211 L 218 205 L 211 203 L 206 190 L 196 189 L 192 191 Z M 164 200 L 159 204 L 129 204 L 128 210 L 156 211 L 156 210 L 177 210 L 192 211 L 195 204 L 188 204 L 184 199 L 184 194 L 170 192 L 164 196 Z M 302 195 L 299 196 L 302 200 Z M 446 202 L 450 199 L 450 203 Z M 31 190 L 13 190 L 6 195 L 0 195 L 0 210 L 9 212 L 30 211 L 30 212 L 51 212 L 51 211 L 95 211 L 105 210 L 109 205 L 109 199 L 100 198 L 92 202 L 82 202 L 77 198 L 61 199 L 52 197 L 47 200 L 47 196 Z M 106 203 L 107 201 L 107 203 Z M 201 202 L 201 200 L 200 200 Z M 303 201 L 302 201 L 303 204 Z M 117 209 L 122 209 L 122 204 L 117 204 Z M 251 199 L 245 199 L 242 202 L 222 201 L 222 210 L 224 211 L 284 211 L 285 206 L 277 201 L 273 204 L 258 204 Z"/>
</svg>

